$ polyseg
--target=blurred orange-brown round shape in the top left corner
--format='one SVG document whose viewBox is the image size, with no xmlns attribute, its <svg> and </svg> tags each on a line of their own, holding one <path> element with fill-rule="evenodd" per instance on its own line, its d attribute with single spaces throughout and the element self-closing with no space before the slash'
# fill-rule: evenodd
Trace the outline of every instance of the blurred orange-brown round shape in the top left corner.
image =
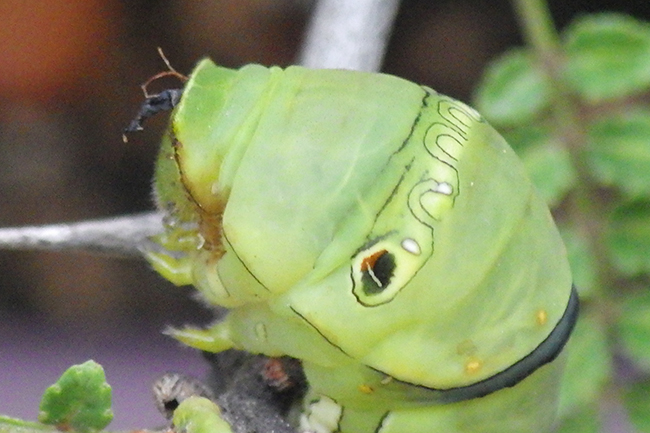
<svg viewBox="0 0 650 433">
<path fill-rule="evenodd" d="M 0 0 L 0 98 L 48 101 L 92 85 L 115 12 L 114 0 Z"/>
</svg>

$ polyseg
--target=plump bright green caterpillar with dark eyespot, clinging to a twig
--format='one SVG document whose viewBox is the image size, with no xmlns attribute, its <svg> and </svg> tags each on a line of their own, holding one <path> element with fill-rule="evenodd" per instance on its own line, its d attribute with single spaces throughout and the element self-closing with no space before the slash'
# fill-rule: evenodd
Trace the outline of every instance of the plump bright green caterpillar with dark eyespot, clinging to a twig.
<svg viewBox="0 0 650 433">
<path fill-rule="evenodd" d="M 210 60 L 177 102 L 148 259 L 229 309 L 177 339 L 301 360 L 298 431 L 550 428 L 577 295 L 546 205 L 476 111 L 384 74 Z"/>
</svg>

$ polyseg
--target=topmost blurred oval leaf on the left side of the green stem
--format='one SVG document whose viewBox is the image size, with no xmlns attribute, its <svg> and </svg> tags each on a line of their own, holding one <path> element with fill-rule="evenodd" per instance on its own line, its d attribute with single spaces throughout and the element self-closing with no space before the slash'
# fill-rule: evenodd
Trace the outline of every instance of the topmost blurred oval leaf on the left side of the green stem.
<svg viewBox="0 0 650 433">
<path fill-rule="evenodd" d="M 487 68 L 475 98 L 476 108 L 495 126 L 528 123 L 546 109 L 550 86 L 525 50 L 506 52 Z"/>
</svg>

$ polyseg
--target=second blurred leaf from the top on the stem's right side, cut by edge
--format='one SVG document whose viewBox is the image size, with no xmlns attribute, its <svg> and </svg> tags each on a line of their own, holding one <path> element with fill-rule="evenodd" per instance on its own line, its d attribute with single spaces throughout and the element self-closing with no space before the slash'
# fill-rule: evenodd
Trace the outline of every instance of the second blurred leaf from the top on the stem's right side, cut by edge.
<svg viewBox="0 0 650 433">
<path fill-rule="evenodd" d="M 587 159 L 594 177 L 631 198 L 650 196 L 650 110 L 637 109 L 596 122 Z"/>
</svg>

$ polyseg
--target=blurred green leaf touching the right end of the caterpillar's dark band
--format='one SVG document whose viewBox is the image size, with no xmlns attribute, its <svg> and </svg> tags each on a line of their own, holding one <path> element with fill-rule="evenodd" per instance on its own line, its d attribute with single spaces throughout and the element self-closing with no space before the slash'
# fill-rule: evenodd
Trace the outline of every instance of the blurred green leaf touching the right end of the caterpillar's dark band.
<svg viewBox="0 0 650 433">
<path fill-rule="evenodd" d="M 583 311 L 567 344 L 567 364 L 560 388 L 560 415 L 568 416 L 595 402 L 612 376 L 605 330 Z"/>
</svg>

